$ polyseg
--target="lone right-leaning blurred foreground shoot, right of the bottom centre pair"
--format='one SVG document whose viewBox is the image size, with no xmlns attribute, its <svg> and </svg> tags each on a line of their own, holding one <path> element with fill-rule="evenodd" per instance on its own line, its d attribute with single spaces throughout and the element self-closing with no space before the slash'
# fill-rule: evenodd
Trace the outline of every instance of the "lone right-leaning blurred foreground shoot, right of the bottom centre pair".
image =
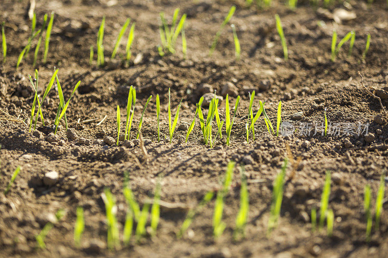
<svg viewBox="0 0 388 258">
<path fill-rule="evenodd" d="M 284 163 L 281 168 L 281 171 L 277 175 L 274 182 L 274 189 L 272 191 L 271 215 L 268 220 L 268 231 L 267 231 L 268 234 L 271 233 L 272 230 L 277 226 L 277 221 L 280 217 L 280 209 L 283 201 L 283 187 L 284 187 L 284 180 L 286 177 L 287 165 L 288 165 L 288 160 L 284 159 Z"/>
</svg>

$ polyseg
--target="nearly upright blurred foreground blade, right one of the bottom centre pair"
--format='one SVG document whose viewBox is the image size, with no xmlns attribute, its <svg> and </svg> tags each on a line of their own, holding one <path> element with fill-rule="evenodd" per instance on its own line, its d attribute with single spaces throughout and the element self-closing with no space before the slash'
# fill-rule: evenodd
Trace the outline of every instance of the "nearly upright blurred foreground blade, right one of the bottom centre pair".
<svg viewBox="0 0 388 258">
<path fill-rule="evenodd" d="M 245 225 L 248 220 L 249 213 L 249 194 L 246 183 L 245 169 L 241 166 L 241 188 L 240 188 L 240 209 L 236 217 L 236 229 L 234 230 L 234 239 L 238 239 L 240 235 L 244 236 Z"/>
</svg>

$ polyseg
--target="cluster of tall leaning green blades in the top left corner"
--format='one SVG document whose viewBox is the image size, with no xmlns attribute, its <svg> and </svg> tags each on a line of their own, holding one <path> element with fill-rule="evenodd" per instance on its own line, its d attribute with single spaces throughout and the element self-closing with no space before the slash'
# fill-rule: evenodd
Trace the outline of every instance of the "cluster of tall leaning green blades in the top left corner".
<svg viewBox="0 0 388 258">
<path fill-rule="evenodd" d="M 36 15 L 33 14 L 32 24 L 31 24 L 31 36 L 28 38 L 27 46 L 25 46 L 23 48 L 23 50 L 20 52 L 20 54 L 17 58 L 16 69 L 19 68 L 19 65 L 20 65 L 21 61 L 23 60 L 23 58 L 26 55 L 28 55 L 28 53 L 30 52 L 33 40 L 35 38 L 38 38 L 38 41 L 37 41 L 36 46 L 35 46 L 35 52 L 34 52 L 33 63 L 32 63 L 32 66 L 36 65 L 36 62 L 38 59 L 38 54 L 39 54 L 39 48 L 40 48 L 40 45 L 42 42 L 43 31 L 45 30 L 46 25 L 47 25 L 47 28 L 46 28 L 46 35 L 45 35 L 45 42 L 44 42 L 43 63 L 47 62 L 47 55 L 49 54 L 49 43 L 50 43 L 51 30 L 52 30 L 52 25 L 54 22 L 54 13 L 53 12 L 50 15 L 49 23 L 47 23 L 47 20 L 48 20 L 48 15 L 45 14 L 43 17 L 43 24 L 42 24 L 41 29 L 36 30 Z M 4 36 L 4 39 L 5 39 L 5 36 Z M 4 41 L 3 41 L 3 44 L 4 44 Z M 6 49 L 6 46 L 5 46 L 5 49 Z M 3 46 L 3 50 L 4 50 L 4 46 Z"/>
</svg>

